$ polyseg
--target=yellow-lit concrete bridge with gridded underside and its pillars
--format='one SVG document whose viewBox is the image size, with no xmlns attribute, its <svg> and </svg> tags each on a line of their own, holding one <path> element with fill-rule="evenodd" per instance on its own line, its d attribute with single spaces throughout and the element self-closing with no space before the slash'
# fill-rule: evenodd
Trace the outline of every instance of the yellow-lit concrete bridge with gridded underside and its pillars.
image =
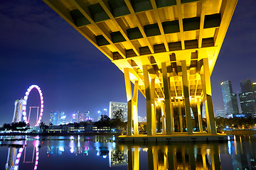
<svg viewBox="0 0 256 170">
<path fill-rule="evenodd" d="M 203 101 L 208 133 L 216 133 L 210 74 L 238 0 L 43 1 L 124 72 L 127 135 L 139 135 L 138 90 L 146 98 L 147 135 L 156 135 L 156 125 L 166 135 L 174 125 L 192 135 L 193 121 L 203 132 Z"/>
</svg>

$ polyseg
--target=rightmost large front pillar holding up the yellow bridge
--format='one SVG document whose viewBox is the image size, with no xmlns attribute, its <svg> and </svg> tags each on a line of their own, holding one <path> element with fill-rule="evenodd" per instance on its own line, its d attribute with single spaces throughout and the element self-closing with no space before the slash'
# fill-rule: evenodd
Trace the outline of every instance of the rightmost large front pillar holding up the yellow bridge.
<svg viewBox="0 0 256 170">
<path fill-rule="evenodd" d="M 208 58 L 203 58 L 203 82 L 204 84 L 203 88 L 203 96 L 205 99 L 205 106 L 206 106 L 206 115 L 208 115 L 208 120 L 210 123 L 210 132 L 212 134 L 216 134 L 216 126 L 215 126 L 215 120 L 214 120 L 214 111 L 213 111 L 213 99 L 211 94 L 211 87 L 210 87 L 210 70 L 209 70 L 209 63 Z"/>
</svg>

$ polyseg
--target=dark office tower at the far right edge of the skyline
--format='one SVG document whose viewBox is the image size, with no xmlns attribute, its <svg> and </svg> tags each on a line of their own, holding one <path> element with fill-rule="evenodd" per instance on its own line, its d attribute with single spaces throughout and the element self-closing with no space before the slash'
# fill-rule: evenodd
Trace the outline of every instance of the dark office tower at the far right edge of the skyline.
<svg viewBox="0 0 256 170">
<path fill-rule="evenodd" d="M 251 114 L 256 118 L 255 93 L 252 90 L 252 82 L 246 79 L 240 82 L 241 94 L 239 94 L 242 113 Z"/>
</svg>

